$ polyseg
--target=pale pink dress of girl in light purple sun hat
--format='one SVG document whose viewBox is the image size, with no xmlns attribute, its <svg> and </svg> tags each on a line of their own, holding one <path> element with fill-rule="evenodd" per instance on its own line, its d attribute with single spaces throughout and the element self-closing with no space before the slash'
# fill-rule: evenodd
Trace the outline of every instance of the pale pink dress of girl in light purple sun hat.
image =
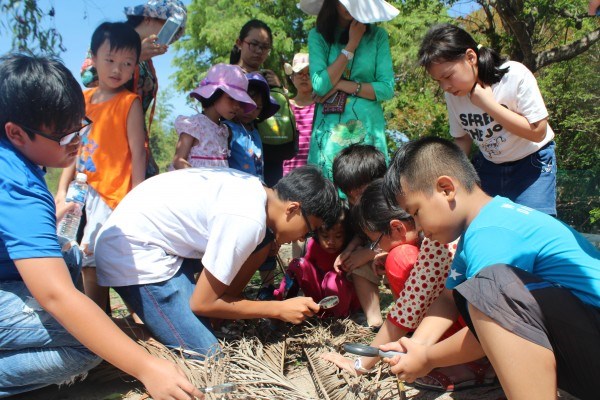
<svg viewBox="0 0 600 400">
<path fill-rule="evenodd" d="M 224 124 L 215 124 L 204 114 L 180 115 L 175 120 L 175 130 L 198 140 L 188 155 L 192 167 L 229 167 L 229 129 Z"/>
</svg>

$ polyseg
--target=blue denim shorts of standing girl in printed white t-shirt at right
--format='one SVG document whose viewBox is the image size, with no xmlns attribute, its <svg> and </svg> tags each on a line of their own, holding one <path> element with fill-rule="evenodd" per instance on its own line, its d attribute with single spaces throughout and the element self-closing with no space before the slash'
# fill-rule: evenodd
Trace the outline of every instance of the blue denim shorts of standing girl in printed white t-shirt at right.
<svg viewBox="0 0 600 400">
<path fill-rule="evenodd" d="M 481 188 L 524 206 L 556 215 L 556 154 L 554 141 L 520 160 L 495 164 L 481 152 L 473 157 Z"/>
</svg>

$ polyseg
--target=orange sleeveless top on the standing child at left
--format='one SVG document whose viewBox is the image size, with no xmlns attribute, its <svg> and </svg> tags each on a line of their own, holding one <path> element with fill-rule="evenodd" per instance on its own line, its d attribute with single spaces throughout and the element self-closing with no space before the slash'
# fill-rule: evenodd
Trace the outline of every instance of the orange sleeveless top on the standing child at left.
<svg viewBox="0 0 600 400">
<path fill-rule="evenodd" d="M 139 96 L 122 90 L 107 101 L 92 104 L 97 89 L 83 93 L 85 112 L 93 124 L 79 149 L 77 169 L 85 172 L 88 184 L 114 209 L 131 190 L 127 116 Z"/>
</svg>

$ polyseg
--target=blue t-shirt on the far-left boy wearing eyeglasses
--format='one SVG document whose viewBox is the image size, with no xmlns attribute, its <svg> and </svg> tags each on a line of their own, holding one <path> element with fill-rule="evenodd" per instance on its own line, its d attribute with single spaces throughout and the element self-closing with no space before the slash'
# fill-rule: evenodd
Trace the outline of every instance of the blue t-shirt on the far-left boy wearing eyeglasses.
<svg viewBox="0 0 600 400">
<path fill-rule="evenodd" d="M 62 257 L 44 174 L 0 139 L 0 281 L 21 279 L 13 260 Z"/>
</svg>

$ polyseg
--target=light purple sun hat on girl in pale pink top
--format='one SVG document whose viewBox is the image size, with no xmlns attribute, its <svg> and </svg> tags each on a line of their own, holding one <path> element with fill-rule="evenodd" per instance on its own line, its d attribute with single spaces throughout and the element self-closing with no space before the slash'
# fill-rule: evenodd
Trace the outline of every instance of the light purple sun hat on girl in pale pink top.
<svg viewBox="0 0 600 400">
<path fill-rule="evenodd" d="M 217 89 L 231 96 L 232 99 L 242 104 L 244 113 L 249 113 L 256 108 L 256 104 L 248 96 L 248 78 L 244 71 L 237 65 L 213 65 L 202 79 L 200 85 L 190 93 L 190 97 L 209 99 Z"/>
</svg>

